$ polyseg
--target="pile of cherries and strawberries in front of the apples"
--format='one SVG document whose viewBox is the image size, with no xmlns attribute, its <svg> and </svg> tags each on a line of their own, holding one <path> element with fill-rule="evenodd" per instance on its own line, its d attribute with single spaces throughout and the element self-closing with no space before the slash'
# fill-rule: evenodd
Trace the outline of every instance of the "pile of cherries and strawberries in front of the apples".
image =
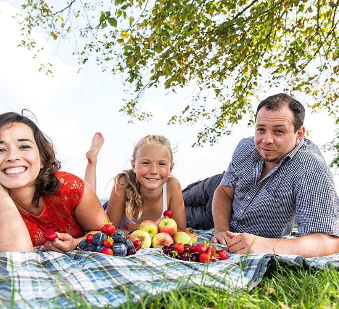
<svg viewBox="0 0 339 309">
<path fill-rule="evenodd" d="M 225 249 L 215 249 L 210 243 L 188 245 L 183 243 L 163 246 L 162 252 L 170 257 L 190 262 L 216 262 L 228 258 Z"/>
</svg>

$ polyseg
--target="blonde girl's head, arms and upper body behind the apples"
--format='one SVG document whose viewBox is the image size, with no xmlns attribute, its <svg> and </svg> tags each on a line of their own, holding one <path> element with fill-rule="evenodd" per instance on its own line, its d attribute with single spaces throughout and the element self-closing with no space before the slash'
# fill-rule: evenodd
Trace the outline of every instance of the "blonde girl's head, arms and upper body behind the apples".
<svg viewBox="0 0 339 309">
<path fill-rule="evenodd" d="M 186 213 L 179 181 L 170 177 L 174 163 L 170 142 L 162 135 L 147 135 L 134 147 L 132 169 L 114 178 L 107 215 L 126 234 L 142 221 L 160 221 L 172 210 L 178 228 L 186 228 Z"/>
</svg>

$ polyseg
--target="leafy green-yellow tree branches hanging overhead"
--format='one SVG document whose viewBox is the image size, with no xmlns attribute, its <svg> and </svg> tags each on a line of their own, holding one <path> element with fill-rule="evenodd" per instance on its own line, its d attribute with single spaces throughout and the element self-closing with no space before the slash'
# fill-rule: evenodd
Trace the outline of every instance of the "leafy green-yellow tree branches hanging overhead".
<svg viewBox="0 0 339 309">
<path fill-rule="evenodd" d="M 137 104 L 147 87 L 175 91 L 197 85 L 192 101 L 168 123 L 201 121 L 198 145 L 229 134 L 246 113 L 253 119 L 251 99 L 263 99 L 263 92 L 275 86 L 296 97 L 307 94 L 312 103 L 305 104 L 327 109 L 338 121 L 337 1 L 73 0 L 57 5 L 26 0 L 26 35 L 42 27 L 55 40 L 75 40 L 80 64 L 92 57 L 103 70 L 123 72 L 134 94 L 121 111 L 131 117 L 150 116 Z"/>
</svg>

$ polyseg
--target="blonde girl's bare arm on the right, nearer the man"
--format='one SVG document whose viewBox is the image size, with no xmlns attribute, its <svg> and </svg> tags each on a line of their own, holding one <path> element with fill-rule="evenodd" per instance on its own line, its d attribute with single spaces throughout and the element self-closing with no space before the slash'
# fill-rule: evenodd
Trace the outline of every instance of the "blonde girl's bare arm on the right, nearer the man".
<svg viewBox="0 0 339 309">
<path fill-rule="evenodd" d="M 172 210 L 173 219 L 176 220 L 178 229 L 185 230 L 186 212 L 180 183 L 176 178 L 170 177 L 167 180 L 167 188 L 167 194 L 170 196 L 168 209 Z"/>
</svg>

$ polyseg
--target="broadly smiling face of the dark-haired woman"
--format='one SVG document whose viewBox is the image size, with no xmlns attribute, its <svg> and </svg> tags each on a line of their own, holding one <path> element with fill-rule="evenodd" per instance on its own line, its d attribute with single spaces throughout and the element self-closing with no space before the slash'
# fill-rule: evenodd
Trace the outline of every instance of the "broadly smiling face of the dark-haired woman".
<svg viewBox="0 0 339 309">
<path fill-rule="evenodd" d="M 41 166 L 33 130 L 24 123 L 0 129 L 0 184 L 8 189 L 35 186 Z"/>
</svg>

